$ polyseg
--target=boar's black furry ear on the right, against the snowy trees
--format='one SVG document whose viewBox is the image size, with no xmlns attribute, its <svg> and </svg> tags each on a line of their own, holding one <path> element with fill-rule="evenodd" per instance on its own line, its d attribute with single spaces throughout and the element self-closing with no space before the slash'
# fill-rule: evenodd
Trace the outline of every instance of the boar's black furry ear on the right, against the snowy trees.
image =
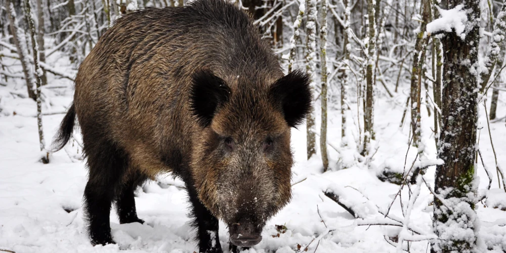
<svg viewBox="0 0 506 253">
<path fill-rule="evenodd" d="M 302 123 L 311 109 L 310 76 L 300 70 L 293 71 L 275 81 L 269 88 L 272 103 L 282 110 L 289 126 Z"/>
</svg>

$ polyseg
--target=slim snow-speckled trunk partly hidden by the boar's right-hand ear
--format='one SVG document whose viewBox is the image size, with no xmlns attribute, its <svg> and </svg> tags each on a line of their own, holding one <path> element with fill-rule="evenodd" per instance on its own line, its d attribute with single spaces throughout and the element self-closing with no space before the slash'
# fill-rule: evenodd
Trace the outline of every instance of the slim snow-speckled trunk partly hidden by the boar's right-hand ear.
<svg viewBox="0 0 506 253">
<path fill-rule="evenodd" d="M 316 0 L 307 1 L 307 22 L 306 22 L 306 72 L 311 75 L 311 92 L 315 93 L 316 87 L 316 17 L 318 11 L 316 9 Z M 306 119 L 307 133 L 307 153 L 308 159 L 316 154 L 316 130 L 315 130 L 315 110 L 311 107 L 311 111 Z"/>
</svg>

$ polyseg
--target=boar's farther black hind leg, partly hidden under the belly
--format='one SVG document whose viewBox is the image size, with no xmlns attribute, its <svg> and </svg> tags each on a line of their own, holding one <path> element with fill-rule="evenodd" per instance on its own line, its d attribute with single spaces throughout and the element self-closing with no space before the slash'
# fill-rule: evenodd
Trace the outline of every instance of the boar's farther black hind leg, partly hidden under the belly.
<svg viewBox="0 0 506 253">
<path fill-rule="evenodd" d="M 121 187 L 116 198 L 116 211 L 119 216 L 119 223 L 138 222 L 143 224 L 144 221 L 137 217 L 135 208 L 134 192 L 138 186 L 146 181 L 146 176 L 135 172 L 129 177 L 129 180 Z"/>
</svg>

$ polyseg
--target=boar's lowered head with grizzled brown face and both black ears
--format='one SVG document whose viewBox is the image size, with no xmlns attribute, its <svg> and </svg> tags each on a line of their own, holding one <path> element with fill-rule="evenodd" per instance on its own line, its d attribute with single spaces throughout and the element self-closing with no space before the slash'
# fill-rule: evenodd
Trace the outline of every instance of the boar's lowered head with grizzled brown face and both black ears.
<svg viewBox="0 0 506 253">
<path fill-rule="evenodd" d="M 201 130 L 192 175 L 202 203 L 228 225 L 231 242 L 252 246 L 291 198 L 290 128 L 310 111 L 310 78 L 294 71 L 273 83 L 240 76 L 229 82 L 209 70 L 193 75 L 190 107 Z"/>
</svg>

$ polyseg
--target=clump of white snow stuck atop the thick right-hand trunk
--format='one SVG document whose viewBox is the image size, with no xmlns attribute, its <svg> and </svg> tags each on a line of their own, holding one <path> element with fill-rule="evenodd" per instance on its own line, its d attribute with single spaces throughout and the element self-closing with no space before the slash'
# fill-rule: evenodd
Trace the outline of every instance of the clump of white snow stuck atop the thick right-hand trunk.
<svg viewBox="0 0 506 253">
<path fill-rule="evenodd" d="M 465 39 L 465 23 L 468 21 L 468 16 L 466 10 L 462 10 L 463 7 L 463 5 L 457 5 L 450 10 L 443 10 L 437 7 L 441 17 L 427 24 L 427 32 L 429 34 L 434 34 L 455 31 L 462 40 Z"/>
</svg>

